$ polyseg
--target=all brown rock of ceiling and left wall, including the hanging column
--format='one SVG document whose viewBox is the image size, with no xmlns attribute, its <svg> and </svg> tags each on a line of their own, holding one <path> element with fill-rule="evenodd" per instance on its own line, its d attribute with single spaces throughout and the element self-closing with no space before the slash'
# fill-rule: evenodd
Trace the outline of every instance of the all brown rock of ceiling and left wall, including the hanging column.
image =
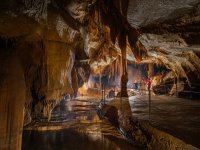
<svg viewBox="0 0 200 150">
<path fill-rule="evenodd" d="M 162 64 L 186 87 L 200 83 L 199 9 L 198 0 L 3 0 L 0 149 L 20 149 L 23 122 L 50 120 L 90 73 L 117 79 L 127 96 L 127 60 Z"/>
</svg>

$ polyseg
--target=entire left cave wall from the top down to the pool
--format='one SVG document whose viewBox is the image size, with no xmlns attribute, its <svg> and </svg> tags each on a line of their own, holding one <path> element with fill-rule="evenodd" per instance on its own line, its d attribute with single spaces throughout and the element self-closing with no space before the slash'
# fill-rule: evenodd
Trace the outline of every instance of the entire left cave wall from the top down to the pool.
<svg viewBox="0 0 200 150">
<path fill-rule="evenodd" d="M 80 31 L 55 7 L 38 18 L 20 4 L 5 2 L 0 11 L 0 149 L 21 149 L 23 125 L 50 120 L 59 101 L 74 94 L 75 53 L 84 51 Z"/>
</svg>

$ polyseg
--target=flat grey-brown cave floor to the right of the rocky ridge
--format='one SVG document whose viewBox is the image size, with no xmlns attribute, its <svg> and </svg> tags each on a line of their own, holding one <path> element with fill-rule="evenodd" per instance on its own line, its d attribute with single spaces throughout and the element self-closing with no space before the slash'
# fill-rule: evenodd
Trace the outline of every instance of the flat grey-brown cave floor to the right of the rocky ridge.
<svg viewBox="0 0 200 150">
<path fill-rule="evenodd" d="M 132 115 L 200 148 L 200 101 L 147 95 L 129 98 Z"/>
</svg>

